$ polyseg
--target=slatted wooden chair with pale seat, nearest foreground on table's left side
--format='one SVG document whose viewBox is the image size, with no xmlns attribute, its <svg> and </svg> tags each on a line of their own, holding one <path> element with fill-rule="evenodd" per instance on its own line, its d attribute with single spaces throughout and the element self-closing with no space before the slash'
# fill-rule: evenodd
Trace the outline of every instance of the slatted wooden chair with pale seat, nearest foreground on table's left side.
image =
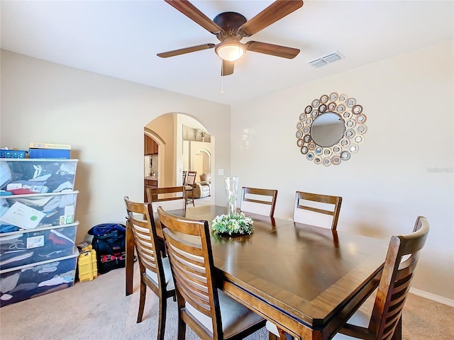
<svg viewBox="0 0 454 340">
<path fill-rule="evenodd" d="M 218 290 L 208 222 L 157 209 L 177 290 L 178 339 L 186 325 L 203 340 L 244 339 L 265 319 Z"/>
</svg>

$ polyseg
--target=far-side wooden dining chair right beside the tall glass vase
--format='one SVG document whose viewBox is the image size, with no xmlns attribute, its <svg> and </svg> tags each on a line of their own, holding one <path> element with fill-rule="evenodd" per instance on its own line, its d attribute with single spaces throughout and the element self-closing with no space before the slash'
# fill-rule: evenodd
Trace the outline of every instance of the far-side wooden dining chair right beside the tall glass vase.
<svg viewBox="0 0 454 340">
<path fill-rule="evenodd" d="M 276 199 L 277 190 L 243 186 L 240 210 L 273 217 L 275 215 Z"/>
</svg>

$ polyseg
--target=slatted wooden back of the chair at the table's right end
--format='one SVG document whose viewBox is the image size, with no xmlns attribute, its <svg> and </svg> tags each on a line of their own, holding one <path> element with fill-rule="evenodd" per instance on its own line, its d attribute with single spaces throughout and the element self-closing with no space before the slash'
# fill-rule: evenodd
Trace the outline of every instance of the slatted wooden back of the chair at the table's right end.
<svg viewBox="0 0 454 340">
<path fill-rule="evenodd" d="M 393 236 L 389 242 L 369 325 L 377 340 L 392 339 L 429 229 L 426 217 L 419 216 L 414 232 Z"/>
</svg>

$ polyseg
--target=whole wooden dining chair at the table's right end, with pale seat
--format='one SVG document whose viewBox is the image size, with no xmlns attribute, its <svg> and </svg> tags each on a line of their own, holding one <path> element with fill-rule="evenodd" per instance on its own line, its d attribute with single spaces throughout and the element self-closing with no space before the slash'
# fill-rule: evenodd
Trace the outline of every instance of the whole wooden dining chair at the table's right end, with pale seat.
<svg viewBox="0 0 454 340">
<path fill-rule="evenodd" d="M 429 229 L 426 217 L 418 216 L 413 232 L 391 237 L 372 314 L 358 310 L 333 340 L 391 340 L 395 331 L 402 332 L 402 311 L 406 295 Z M 270 331 L 270 339 L 277 339 L 275 324 L 267 322 L 267 329 Z"/>
</svg>

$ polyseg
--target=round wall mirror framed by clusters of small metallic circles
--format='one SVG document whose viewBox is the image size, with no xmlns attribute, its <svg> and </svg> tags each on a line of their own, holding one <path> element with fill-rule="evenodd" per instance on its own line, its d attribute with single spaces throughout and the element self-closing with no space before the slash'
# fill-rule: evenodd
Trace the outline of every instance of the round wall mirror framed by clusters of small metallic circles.
<svg viewBox="0 0 454 340">
<path fill-rule="evenodd" d="M 315 164 L 348 161 L 360 149 L 367 117 L 355 98 L 333 92 L 316 98 L 299 115 L 297 146 Z"/>
</svg>

